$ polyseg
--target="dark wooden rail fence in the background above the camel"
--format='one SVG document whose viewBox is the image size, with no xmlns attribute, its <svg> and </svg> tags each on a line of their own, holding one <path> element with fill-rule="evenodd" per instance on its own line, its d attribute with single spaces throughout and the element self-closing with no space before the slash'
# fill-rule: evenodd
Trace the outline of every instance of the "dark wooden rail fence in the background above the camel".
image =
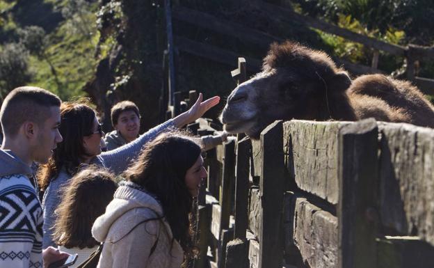
<svg viewBox="0 0 434 268">
<path fill-rule="evenodd" d="M 205 29 L 207 31 L 212 31 L 215 33 L 223 34 L 228 38 L 234 38 L 236 40 L 241 40 L 243 43 L 248 43 L 252 47 L 259 47 L 264 49 L 264 54 L 272 42 L 281 42 L 285 37 L 271 36 L 268 33 L 258 31 L 257 29 L 252 29 L 249 26 L 239 24 L 237 22 L 230 22 L 227 19 L 216 17 L 215 15 L 210 15 L 207 13 L 200 12 L 198 10 L 193 10 L 191 8 L 186 8 L 176 1 L 172 8 L 166 7 L 166 23 L 170 25 L 168 27 L 168 63 L 167 65 L 171 68 L 168 71 L 170 74 L 170 87 L 171 92 L 175 92 L 175 63 L 173 58 L 173 49 L 179 49 L 182 52 L 188 54 L 193 54 L 195 56 L 200 56 L 203 58 L 208 58 L 211 61 L 216 61 L 218 63 L 225 63 L 227 65 L 234 66 L 236 63 L 236 58 L 240 56 L 240 52 L 232 52 L 227 49 L 221 49 L 213 45 L 205 44 L 198 40 L 191 40 L 183 36 L 179 36 L 179 33 L 172 33 L 172 20 L 173 24 L 177 22 L 183 22 L 191 25 L 196 29 Z M 170 1 L 165 0 L 166 5 L 170 5 Z M 416 86 L 419 87 L 426 94 L 433 94 L 434 79 L 417 77 L 417 70 L 415 68 L 415 63 L 420 61 L 432 61 L 434 59 L 434 48 L 433 47 L 419 47 L 417 45 L 408 45 L 403 47 L 400 45 L 393 45 L 387 42 L 377 40 L 375 38 L 370 38 L 368 36 L 363 36 L 359 33 L 349 31 L 347 29 L 339 28 L 328 22 L 324 22 L 320 19 L 315 19 L 313 17 L 308 17 L 295 13 L 288 8 L 282 6 L 273 5 L 271 3 L 266 3 L 260 0 L 254 0 L 249 3 L 252 6 L 257 6 L 259 10 L 270 13 L 269 19 L 275 25 L 287 24 L 294 25 L 300 24 L 313 29 L 319 29 L 325 33 L 331 33 L 336 36 L 341 36 L 346 40 L 351 40 L 353 42 L 358 42 L 369 47 L 373 51 L 373 58 L 371 61 L 371 66 L 360 65 L 346 61 L 343 58 L 335 58 L 334 60 L 338 65 L 343 65 L 346 70 L 352 72 L 353 74 L 367 74 L 367 73 L 381 73 L 382 70 L 378 70 L 379 52 L 385 52 L 387 54 L 392 54 L 394 56 L 402 56 L 405 58 L 406 70 L 405 78 L 412 81 Z M 247 69 L 249 72 L 257 72 L 260 70 L 262 61 L 257 58 L 251 58 L 248 55 L 241 56 L 245 57 L 248 61 Z M 170 102 L 172 104 L 172 102 Z"/>
</svg>

